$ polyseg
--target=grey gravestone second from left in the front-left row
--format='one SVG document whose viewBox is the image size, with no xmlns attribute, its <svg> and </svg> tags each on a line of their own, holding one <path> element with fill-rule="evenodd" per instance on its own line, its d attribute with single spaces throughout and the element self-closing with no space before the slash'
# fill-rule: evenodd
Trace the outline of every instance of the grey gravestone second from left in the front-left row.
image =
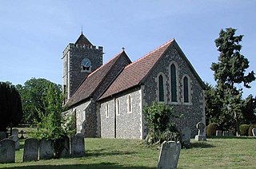
<svg viewBox="0 0 256 169">
<path fill-rule="evenodd" d="M 24 143 L 23 162 L 38 160 L 38 146 L 37 139 L 26 139 Z"/>
</svg>

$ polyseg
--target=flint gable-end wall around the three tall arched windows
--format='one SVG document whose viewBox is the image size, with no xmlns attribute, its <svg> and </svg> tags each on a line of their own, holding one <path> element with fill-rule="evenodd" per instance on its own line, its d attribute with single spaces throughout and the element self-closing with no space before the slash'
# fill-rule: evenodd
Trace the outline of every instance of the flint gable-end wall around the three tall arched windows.
<svg viewBox="0 0 256 169">
<path fill-rule="evenodd" d="M 177 65 L 177 89 L 178 89 L 178 101 L 173 103 L 170 101 L 170 64 Z M 184 116 L 180 120 L 176 120 L 178 128 L 189 127 L 191 129 L 191 136 L 194 137 L 197 134 L 196 124 L 203 121 L 204 115 L 204 94 L 202 86 L 199 84 L 197 78 L 192 73 L 192 70 L 187 65 L 184 57 L 181 57 L 181 53 L 178 49 L 172 45 L 165 53 L 165 56 L 158 62 L 151 71 L 150 75 L 144 82 L 144 89 L 142 90 L 143 106 L 151 104 L 154 100 L 158 100 L 158 74 L 164 74 L 164 88 L 165 88 L 165 102 L 174 106 L 174 112 L 177 114 L 183 114 Z M 184 103 L 182 98 L 183 86 L 182 77 L 189 77 L 190 79 L 190 102 Z"/>
</svg>

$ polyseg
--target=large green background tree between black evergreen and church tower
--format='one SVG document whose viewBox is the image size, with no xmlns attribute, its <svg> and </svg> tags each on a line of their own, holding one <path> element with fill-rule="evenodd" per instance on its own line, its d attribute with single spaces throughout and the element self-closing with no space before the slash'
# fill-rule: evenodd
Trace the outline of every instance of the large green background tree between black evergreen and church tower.
<svg viewBox="0 0 256 169">
<path fill-rule="evenodd" d="M 16 85 L 22 96 L 23 123 L 33 124 L 34 122 L 39 122 L 41 118 L 38 112 L 47 113 L 46 96 L 50 85 L 53 85 L 59 92 L 62 91 L 61 85 L 54 84 L 43 78 L 31 78 L 23 86 Z"/>
</svg>

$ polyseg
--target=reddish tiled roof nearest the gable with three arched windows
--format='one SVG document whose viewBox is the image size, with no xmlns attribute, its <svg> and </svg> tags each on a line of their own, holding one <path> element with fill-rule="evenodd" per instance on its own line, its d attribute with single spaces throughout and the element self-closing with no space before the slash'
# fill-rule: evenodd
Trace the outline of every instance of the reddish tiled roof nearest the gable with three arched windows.
<svg viewBox="0 0 256 169">
<path fill-rule="evenodd" d="M 167 41 L 164 45 L 159 46 L 157 49 L 138 59 L 138 61 L 127 65 L 99 100 L 139 85 L 173 41 L 174 39 Z"/>
</svg>

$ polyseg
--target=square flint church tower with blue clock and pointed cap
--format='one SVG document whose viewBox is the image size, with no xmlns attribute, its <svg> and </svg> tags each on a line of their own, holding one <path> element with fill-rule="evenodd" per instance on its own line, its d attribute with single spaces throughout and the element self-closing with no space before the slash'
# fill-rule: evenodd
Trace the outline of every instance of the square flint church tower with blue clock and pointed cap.
<svg viewBox="0 0 256 169">
<path fill-rule="evenodd" d="M 65 102 L 70 99 L 86 77 L 102 65 L 102 46 L 92 45 L 81 33 L 75 43 L 70 43 L 63 51 L 63 83 Z"/>
</svg>

